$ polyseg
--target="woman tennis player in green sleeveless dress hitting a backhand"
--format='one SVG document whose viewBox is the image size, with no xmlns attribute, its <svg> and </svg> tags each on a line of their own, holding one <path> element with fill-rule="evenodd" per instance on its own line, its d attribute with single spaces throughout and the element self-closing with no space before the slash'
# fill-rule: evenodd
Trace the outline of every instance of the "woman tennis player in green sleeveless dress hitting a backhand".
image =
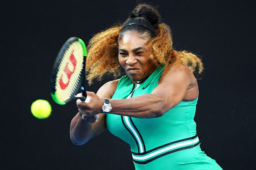
<svg viewBox="0 0 256 170">
<path fill-rule="evenodd" d="M 89 83 L 106 72 L 118 75 L 120 65 L 127 75 L 97 94 L 87 92 L 89 103 L 76 101 L 70 138 L 81 145 L 108 128 L 130 144 L 136 170 L 220 170 L 201 151 L 194 122 L 199 95 L 194 74 L 203 64 L 192 53 L 175 51 L 169 26 L 159 22 L 156 8 L 140 4 L 122 26 L 90 40 Z"/>
</svg>

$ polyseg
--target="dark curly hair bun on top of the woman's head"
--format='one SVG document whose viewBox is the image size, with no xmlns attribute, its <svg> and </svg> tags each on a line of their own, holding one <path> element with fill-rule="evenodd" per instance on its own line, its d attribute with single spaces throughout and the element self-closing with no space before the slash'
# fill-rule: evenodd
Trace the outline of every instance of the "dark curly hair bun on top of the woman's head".
<svg viewBox="0 0 256 170">
<path fill-rule="evenodd" d="M 145 18 L 151 23 L 152 26 L 158 25 L 158 22 L 161 20 L 161 16 L 157 11 L 156 7 L 148 5 L 146 3 L 137 5 L 133 13 L 139 15 L 142 18 Z"/>
</svg>

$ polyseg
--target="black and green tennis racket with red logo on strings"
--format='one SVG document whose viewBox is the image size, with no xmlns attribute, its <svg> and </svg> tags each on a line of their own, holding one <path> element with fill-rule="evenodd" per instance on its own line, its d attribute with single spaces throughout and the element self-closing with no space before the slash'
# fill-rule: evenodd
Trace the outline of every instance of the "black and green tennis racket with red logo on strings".
<svg viewBox="0 0 256 170">
<path fill-rule="evenodd" d="M 53 101 L 66 104 L 73 98 L 89 102 L 85 88 L 86 46 L 80 38 L 69 38 L 57 55 L 50 79 Z M 82 96 L 75 96 L 81 89 Z"/>
</svg>

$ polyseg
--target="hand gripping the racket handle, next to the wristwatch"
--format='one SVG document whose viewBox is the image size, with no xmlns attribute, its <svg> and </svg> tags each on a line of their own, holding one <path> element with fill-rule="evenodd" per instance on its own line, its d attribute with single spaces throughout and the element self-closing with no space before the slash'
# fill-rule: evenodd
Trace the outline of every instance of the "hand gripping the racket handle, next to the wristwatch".
<svg viewBox="0 0 256 170">
<path fill-rule="evenodd" d="M 97 96 L 94 92 L 86 91 L 86 93 L 90 99 L 88 103 L 85 103 L 80 99 L 76 100 L 76 106 L 78 107 L 79 112 L 82 112 L 82 114 L 89 116 L 102 113 L 104 99 Z"/>
</svg>

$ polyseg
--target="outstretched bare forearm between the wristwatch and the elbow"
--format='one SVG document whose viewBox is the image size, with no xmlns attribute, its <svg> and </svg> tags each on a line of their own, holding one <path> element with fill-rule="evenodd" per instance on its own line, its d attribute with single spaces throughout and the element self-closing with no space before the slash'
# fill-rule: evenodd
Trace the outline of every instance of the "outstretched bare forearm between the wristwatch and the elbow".
<svg viewBox="0 0 256 170">
<path fill-rule="evenodd" d="M 110 99 L 112 106 L 110 114 L 137 118 L 160 117 L 167 111 L 163 108 L 164 103 L 164 99 L 154 94 L 140 95 L 130 99 Z"/>
</svg>

